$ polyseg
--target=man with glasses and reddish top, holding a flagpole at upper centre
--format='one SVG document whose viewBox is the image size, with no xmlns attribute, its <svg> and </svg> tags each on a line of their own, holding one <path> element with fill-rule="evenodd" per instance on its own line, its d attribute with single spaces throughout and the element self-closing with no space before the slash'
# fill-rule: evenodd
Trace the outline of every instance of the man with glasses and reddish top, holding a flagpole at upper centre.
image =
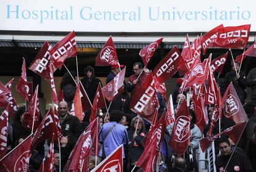
<svg viewBox="0 0 256 172">
<path fill-rule="evenodd" d="M 129 85 L 127 87 L 127 91 L 130 92 L 130 98 L 134 96 L 135 92 L 140 88 L 140 85 L 143 83 L 143 81 L 147 78 L 147 75 L 143 72 L 143 64 L 141 62 L 134 63 L 134 75 L 131 75 L 129 77 Z M 142 73 L 140 75 L 140 73 Z M 140 77 L 138 78 L 138 76 Z"/>
</svg>

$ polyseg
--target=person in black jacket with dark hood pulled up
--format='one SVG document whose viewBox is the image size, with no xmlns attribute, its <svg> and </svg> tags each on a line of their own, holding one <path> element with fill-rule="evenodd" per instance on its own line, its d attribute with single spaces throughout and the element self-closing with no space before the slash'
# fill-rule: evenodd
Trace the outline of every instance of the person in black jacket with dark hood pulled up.
<svg viewBox="0 0 256 172">
<path fill-rule="evenodd" d="M 91 103 L 93 104 L 93 99 L 97 91 L 98 84 L 101 84 L 101 81 L 98 78 L 95 78 L 95 72 L 91 66 L 85 68 L 84 74 L 85 77 L 81 80 L 81 83 L 83 84 L 83 88 L 85 89 Z"/>
</svg>

